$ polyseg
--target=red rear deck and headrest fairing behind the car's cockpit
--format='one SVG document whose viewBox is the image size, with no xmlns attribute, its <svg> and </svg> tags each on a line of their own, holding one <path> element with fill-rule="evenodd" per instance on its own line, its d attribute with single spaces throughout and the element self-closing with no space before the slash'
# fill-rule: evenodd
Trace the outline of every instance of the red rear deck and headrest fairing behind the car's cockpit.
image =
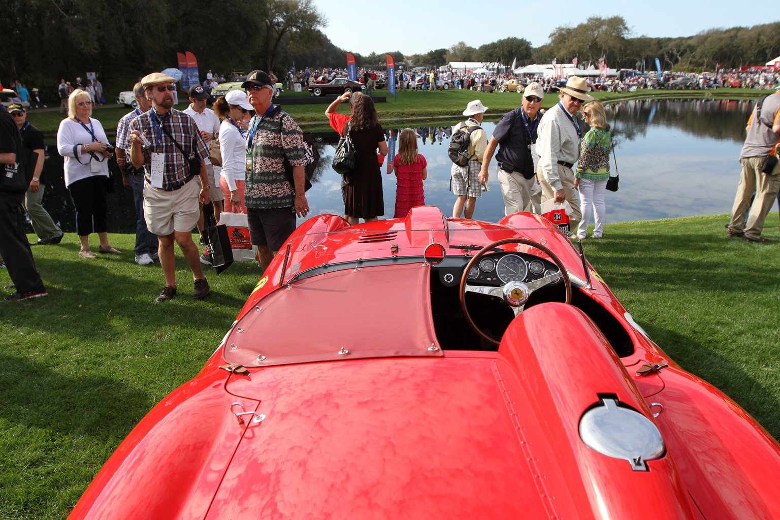
<svg viewBox="0 0 780 520">
<path fill-rule="evenodd" d="M 538 320 L 538 307 L 526 323 Z M 634 472 L 578 437 L 594 388 L 645 405 L 595 326 L 559 308 L 574 322 L 560 333 L 572 348 L 526 359 L 522 370 L 512 359 L 519 351 L 502 343 L 503 355 L 448 352 L 232 376 L 227 390 L 237 401 L 261 401 L 265 419 L 247 427 L 207 518 L 692 518 L 671 456 Z M 524 345 L 536 341 L 523 329 L 526 313 L 510 327 L 510 342 L 518 331 L 527 333 Z M 583 348 L 588 341 L 601 342 L 603 359 Z M 579 366 L 566 360 L 576 351 L 590 352 L 595 369 L 573 379 L 581 391 L 560 380 L 559 369 Z M 556 359 L 559 368 L 550 364 Z M 654 497 L 652 511 L 636 508 L 642 497 Z"/>
</svg>

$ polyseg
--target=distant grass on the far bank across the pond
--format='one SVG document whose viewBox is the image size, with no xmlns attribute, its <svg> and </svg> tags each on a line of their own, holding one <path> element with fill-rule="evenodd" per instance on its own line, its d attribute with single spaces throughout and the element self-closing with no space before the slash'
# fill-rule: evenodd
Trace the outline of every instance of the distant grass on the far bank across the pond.
<svg viewBox="0 0 780 520">
<path fill-rule="evenodd" d="M 714 90 L 637 90 L 636 92 L 601 92 L 595 91 L 590 94 L 604 102 L 619 101 L 622 99 L 648 98 L 681 98 L 681 97 L 704 97 L 707 99 L 754 99 L 763 94 L 771 94 L 772 90 L 756 89 L 732 89 L 719 88 Z M 413 121 L 414 119 L 434 118 L 441 116 L 452 116 L 461 119 L 461 113 L 466 108 L 469 101 L 480 99 L 482 103 L 490 110 L 486 114 L 487 119 L 498 118 L 507 111 L 520 106 L 521 94 L 516 92 L 475 92 L 473 90 L 436 90 L 433 92 L 422 92 L 420 90 L 403 90 L 398 92 L 395 100 L 386 89 L 375 90 L 375 95 L 387 97 L 386 103 L 377 103 L 379 118 L 385 122 L 386 126 L 401 124 L 404 121 Z M 309 95 L 306 92 L 285 92 L 284 96 Z M 179 98 L 181 100 L 181 97 Z M 185 100 L 186 101 L 186 100 Z M 543 108 L 550 108 L 558 102 L 557 94 L 547 94 L 544 97 Z M 176 108 L 183 110 L 188 103 L 180 102 Z M 307 131 L 328 129 L 328 119 L 325 117 L 326 104 L 293 104 L 285 105 L 284 109 L 289 115 L 292 115 L 296 122 L 299 122 Z M 347 108 L 342 108 L 346 113 Z M 95 108 L 93 116 L 101 122 L 107 133 L 116 130 L 116 124 L 122 115 L 125 115 L 129 109 L 117 105 L 107 104 L 105 107 Z M 27 120 L 30 124 L 40 129 L 47 135 L 54 136 L 57 133 L 59 122 L 63 116 L 58 111 L 30 111 Z M 442 122 L 444 124 L 445 122 Z"/>
</svg>

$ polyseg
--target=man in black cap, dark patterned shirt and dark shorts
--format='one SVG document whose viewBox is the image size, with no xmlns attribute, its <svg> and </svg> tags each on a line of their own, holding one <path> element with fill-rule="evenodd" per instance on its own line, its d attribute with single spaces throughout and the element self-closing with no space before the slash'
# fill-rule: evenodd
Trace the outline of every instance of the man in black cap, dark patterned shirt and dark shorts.
<svg viewBox="0 0 780 520">
<path fill-rule="evenodd" d="M 306 147 L 293 118 L 271 103 L 274 83 L 268 74 L 254 70 L 241 87 L 257 112 L 246 135 L 247 160 L 251 158 L 244 191 L 246 218 L 252 245 L 257 246 L 262 266 L 268 267 L 295 230 L 296 214 L 309 213 L 303 170 Z M 285 159 L 293 168 L 292 184 L 285 175 Z"/>
</svg>

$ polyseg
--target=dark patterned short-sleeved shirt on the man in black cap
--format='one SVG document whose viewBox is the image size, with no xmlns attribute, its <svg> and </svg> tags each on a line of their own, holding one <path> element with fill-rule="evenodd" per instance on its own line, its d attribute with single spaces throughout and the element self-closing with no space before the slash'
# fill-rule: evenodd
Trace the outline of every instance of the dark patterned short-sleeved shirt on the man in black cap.
<svg viewBox="0 0 780 520">
<path fill-rule="evenodd" d="M 246 207 L 291 207 L 295 203 L 295 187 L 287 180 L 285 158 L 293 166 L 306 164 L 300 126 L 280 106 L 274 107 L 262 121 L 254 116 L 250 129 L 255 125 L 257 131 L 251 148 L 251 132 L 246 133 L 246 153 L 252 157 L 252 172 L 246 175 L 244 191 Z"/>
</svg>

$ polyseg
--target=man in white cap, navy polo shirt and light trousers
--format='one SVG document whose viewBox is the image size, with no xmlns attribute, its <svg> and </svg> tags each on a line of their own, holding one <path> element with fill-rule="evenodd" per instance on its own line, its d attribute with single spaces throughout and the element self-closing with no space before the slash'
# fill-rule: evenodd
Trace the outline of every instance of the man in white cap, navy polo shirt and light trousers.
<svg viewBox="0 0 780 520">
<path fill-rule="evenodd" d="M 524 211 L 534 198 L 531 193 L 536 184 L 534 171 L 538 162 L 534 157 L 534 147 L 537 140 L 537 129 L 541 114 L 541 102 L 544 100 L 544 89 L 539 83 L 530 83 L 523 91 L 523 104 L 507 112 L 495 126 L 488 147 L 485 149 L 480 184 L 488 182 L 488 165 L 496 147 L 496 176 L 501 184 L 504 196 L 504 214 L 511 215 Z M 532 210 L 539 213 L 539 200 L 533 200 Z"/>
</svg>

